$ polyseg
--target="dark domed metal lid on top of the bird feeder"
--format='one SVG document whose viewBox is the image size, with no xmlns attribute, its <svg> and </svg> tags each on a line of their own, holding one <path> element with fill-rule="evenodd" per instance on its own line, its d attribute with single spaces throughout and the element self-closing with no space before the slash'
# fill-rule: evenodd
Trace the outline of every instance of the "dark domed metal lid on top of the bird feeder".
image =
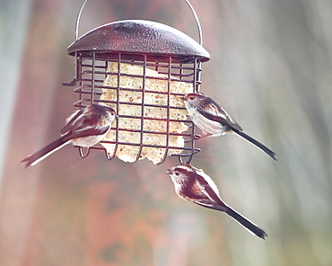
<svg viewBox="0 0 332 266">
<path fill-rule="evenodd" d="M 210 59 L 209 53 L 183 33 L 159 22 L 143 20 L 126 20 L 110 22 L 87 32 L 75 40 L 67 49 L 74 56 L 75 52 L 90 54 L 125 53 L 146 54 L 150 56 L 175 56 L 181 61 L 202 62 Z"/>
</svg>

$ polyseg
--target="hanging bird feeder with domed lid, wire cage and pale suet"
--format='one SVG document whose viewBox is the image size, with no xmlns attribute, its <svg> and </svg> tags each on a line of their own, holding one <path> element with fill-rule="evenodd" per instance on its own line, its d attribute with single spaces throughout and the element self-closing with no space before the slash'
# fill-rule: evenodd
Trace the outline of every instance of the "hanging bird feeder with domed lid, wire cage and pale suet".
<svg viewBox="0 0 332 266">
<path fill-rule="evenodd" d="M 159 22 L 125 20 L 87 32 L 67 53 L 75 58 L 74 79 L 65 84 L 75 86 L 74 106 L 109 105 L 118 115 L 92 149 L 104 150 L 108 159 L 146 157 L 153 164 L 174 155 L 191 160 L 199 152 L 182 101 L 199 91 L 201 63 L 210 58 L 196 40 Z"/>
</svg>

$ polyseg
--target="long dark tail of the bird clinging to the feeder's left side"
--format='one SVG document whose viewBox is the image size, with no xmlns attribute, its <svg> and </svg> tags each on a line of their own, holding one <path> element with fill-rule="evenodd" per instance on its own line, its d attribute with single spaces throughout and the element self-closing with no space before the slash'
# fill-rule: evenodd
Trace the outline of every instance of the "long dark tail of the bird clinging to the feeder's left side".
<svg viewBox="0 0 332 266">
<path fill-rule="evenodd" d="M 39 149 L 39 151 L 24 158 L 21 161 L 21 163 L 25 163 L 25 167 L 28 167 L 30 165 L 35 165 L 35 164 L 39 163 L 41 160 L 48 157 L 48 155 L 53 154 L 59 148 L 68 144 L 69 142 L 70 142 L 70 140 L 67 140 L 67 138 L 65 136 L 59 137 L 55 141 L 48 144 L 48 146 L 44 146 L 43 148 Z"/>
</svg>

